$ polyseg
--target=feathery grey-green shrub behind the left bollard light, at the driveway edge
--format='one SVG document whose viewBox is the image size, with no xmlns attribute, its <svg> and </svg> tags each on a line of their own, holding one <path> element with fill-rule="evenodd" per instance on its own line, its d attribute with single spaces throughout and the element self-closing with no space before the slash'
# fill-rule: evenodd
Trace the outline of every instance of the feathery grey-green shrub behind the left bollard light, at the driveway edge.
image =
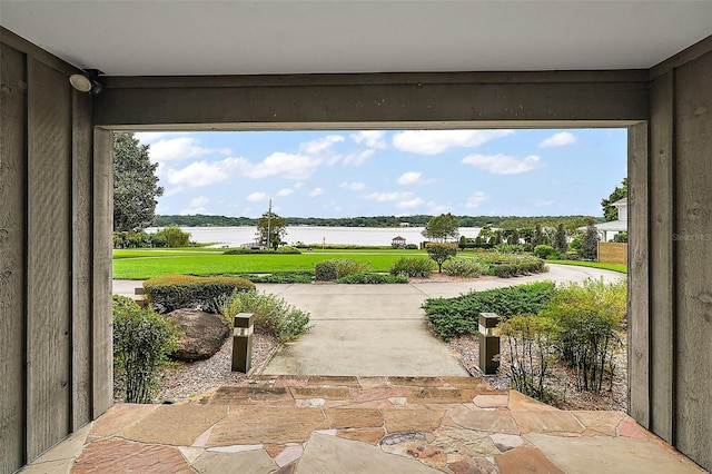
<svg viewBox="0 0 712 474">
<path fill-rule="evenodd" d="M 273 334 L 280 342 L 296 339 L 310 328 L 309 313 L 267 293 L 235 292 L 224 298 L 220 309 L 230 323 L 238 313 L 254 313 L 255 326 Z"/>
</svg>

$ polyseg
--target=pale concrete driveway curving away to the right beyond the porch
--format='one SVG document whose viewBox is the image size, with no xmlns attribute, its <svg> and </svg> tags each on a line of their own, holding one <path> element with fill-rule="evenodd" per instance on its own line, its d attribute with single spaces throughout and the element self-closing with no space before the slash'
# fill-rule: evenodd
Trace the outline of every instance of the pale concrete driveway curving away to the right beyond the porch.
<svg viewBox="0 0 712 474">
<path fill-rule="evenodd" d="M 613 282 L 625 275 L 596 268 L 550 265 L 546 274 L 508 279 L 427 282 L 404 285 L 258 284 L 312 314 L 314 327 L 281 346 L 265 375 L 444 376 L 467 375 L 447 346 L 427 327 L 426 298 L 453 297 L 531 282 Z M 130 296 L 141 282 L 115 280 Z"/>
</svg>

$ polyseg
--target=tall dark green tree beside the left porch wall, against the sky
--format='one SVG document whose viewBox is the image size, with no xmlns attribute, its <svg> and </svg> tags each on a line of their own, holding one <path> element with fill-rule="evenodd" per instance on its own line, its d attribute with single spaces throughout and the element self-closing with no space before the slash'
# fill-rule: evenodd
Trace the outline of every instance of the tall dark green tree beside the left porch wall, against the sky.
<svg viewBox="0 0 712 474">
<path fill-rule="evenodd" d="M 113 230 L 145 229 L 156 217 L 156 198 L 164 195 L 148 145 L 134 134 L 113 135 Z"/>
</svg>

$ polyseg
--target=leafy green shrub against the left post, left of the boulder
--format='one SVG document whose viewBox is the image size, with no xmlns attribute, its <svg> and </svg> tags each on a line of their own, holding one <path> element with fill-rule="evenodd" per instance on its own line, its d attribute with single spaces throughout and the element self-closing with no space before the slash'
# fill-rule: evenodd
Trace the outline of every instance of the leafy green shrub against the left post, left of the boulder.
<svg viewBox="0 0 712 474">
<path fill-rule="evenodd" d="M 179 329 L 165 317 L 113 295 L 113 371 L 126 403 L 151 403 L 159 371 L 177 347 Z"/>
</svg>

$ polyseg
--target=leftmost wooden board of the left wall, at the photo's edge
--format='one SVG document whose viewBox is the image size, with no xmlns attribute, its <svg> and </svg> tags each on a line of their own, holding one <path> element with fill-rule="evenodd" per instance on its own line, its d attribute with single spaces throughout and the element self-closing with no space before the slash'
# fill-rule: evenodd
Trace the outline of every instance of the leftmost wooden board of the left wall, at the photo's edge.
<svg viewBox="0 0 712 474">
<path fill-rule="evenodd" d="M 24 458 L 27 79 L 24 56 L 0 48 L 0 472 L 8 473 Z"/>
</svg>

